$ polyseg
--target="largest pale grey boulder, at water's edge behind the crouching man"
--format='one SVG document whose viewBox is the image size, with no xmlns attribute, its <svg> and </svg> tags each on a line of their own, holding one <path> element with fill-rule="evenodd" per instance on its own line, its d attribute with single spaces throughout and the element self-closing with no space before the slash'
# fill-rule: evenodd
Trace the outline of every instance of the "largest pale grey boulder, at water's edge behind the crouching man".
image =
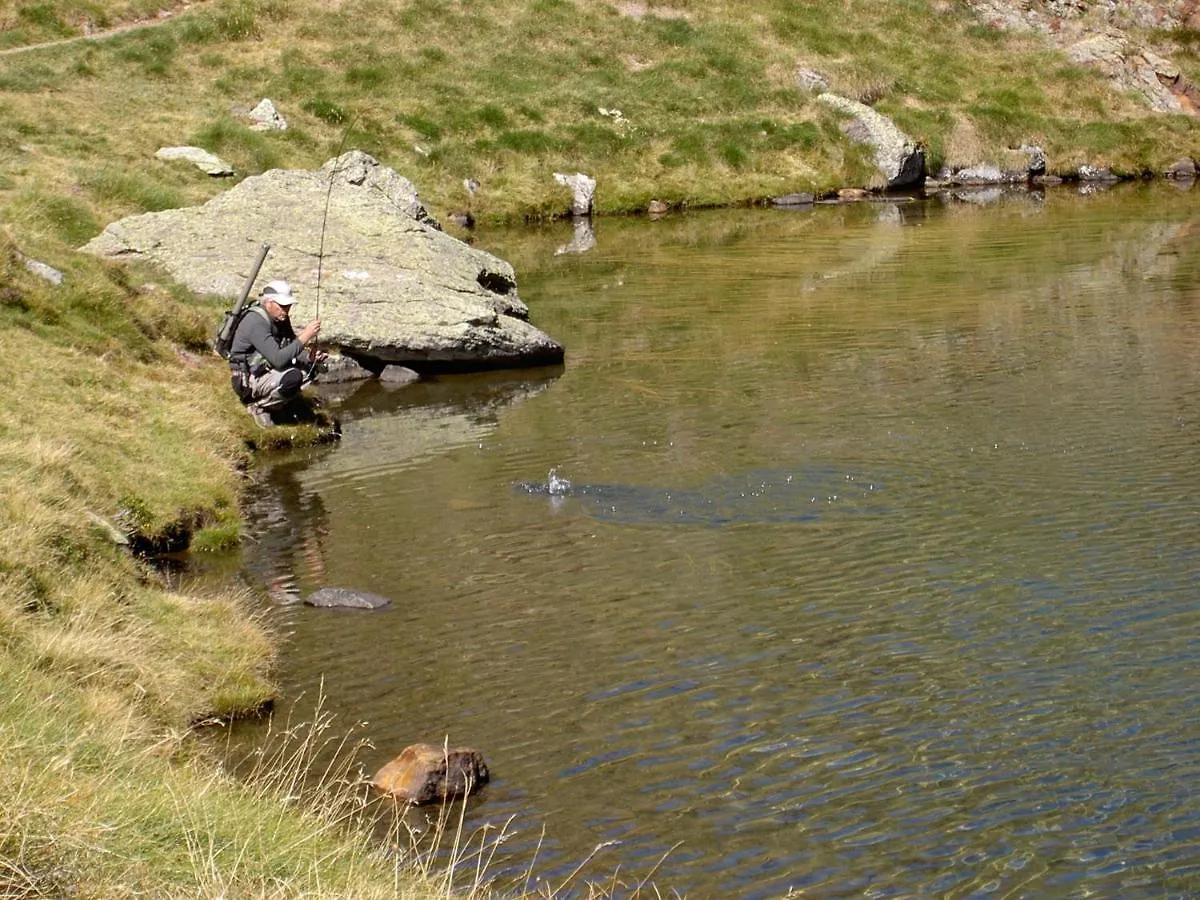
<svg viewBox="0 0 1200 900">
<path fill-rule="evenodd" d="M 442 232 L 408 179 L 360 151 L 248 178 L 203 206 L 114 222 L 84 250 L 145 259 L 192 290 L 234 298 L 263 241 L 271 252 L 259 283 L 289 281 L 300 298 L 293 318 L 319 310 L 323 346 L 373 371 L 563 359 L 529 323 L 512 266 Z"/>
</svg>

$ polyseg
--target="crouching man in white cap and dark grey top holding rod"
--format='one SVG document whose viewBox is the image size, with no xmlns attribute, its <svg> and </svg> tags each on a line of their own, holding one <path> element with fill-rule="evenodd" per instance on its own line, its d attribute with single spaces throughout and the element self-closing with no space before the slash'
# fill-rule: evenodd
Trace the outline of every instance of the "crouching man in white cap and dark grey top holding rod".
<svg viewBox="0 0 1200 900">
<path fill-rule="evenodd" d="M 233 388 L 258 425 L 274 425 L 271 410 L 299 396 L 317 377 L 319 354 L 305 349 L 320 334 L 313 319 L 298 335 L 292 329 L 295 294 L 286 281 L 263 287 L 234 332 L 229 350 Z"/>
</svg>

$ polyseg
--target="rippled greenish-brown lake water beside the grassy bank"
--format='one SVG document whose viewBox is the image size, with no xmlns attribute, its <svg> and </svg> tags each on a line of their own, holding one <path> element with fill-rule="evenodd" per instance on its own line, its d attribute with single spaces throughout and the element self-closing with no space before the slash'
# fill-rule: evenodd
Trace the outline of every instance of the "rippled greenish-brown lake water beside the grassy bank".
<svg viewBox="0 0 1200 900">
<path fill-rule="evenodd" d="M 271 464 L 283 704 L 499 888 L 1200 895 L 1200 188 L 978 197 L 476 235 L 566 364 Z"/>
</svg>

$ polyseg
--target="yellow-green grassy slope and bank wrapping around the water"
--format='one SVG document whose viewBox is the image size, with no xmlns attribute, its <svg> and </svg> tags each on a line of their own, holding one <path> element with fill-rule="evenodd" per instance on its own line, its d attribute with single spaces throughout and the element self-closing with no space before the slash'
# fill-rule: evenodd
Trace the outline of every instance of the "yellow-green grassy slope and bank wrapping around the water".
<svg viewBox="0 0 1200 900">
<path fill-rule="evenodd" d="M 1146 40 L 1200 82 L 1196 35 Z M 1027 143 L 1051 170 L 1140 174 L 1200 146 L 1198 120 L 1150 114 L 952 2 L 0 0 L 0 894 L 445 893 L 374 853 L 353 791 L 306 804 L 194 739 L 274 697 L 272 637 L 253 598 L 169 583 L 116 538 L 235 546 L 264 437 L 206 353 L 227 301 L 76 248 L 343 142 L 434 216 L 469 204 L 480 223 L 564 211 L 554 172 L 596 178 L 601 214 L 876 184 L 797 88 L 800 64 L 923 142 L 932 169 Z M 263 97 L 287 131 L 251 130 Z M 238 175 L 154 158 L 179 144 Z"/>
</svg>

